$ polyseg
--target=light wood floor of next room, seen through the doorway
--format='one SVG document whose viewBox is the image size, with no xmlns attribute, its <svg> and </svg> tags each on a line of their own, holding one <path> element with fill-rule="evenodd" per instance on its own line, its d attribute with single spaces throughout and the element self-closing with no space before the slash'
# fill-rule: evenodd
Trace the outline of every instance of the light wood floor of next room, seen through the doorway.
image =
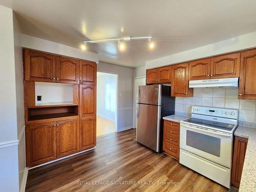
<svg viewBox="0 0 256 192">
<path fill-rule="evenodd" d="M 97 115 L 96 118 L 97 137 L 115 132 L 115 122 Z"/>
</svg>

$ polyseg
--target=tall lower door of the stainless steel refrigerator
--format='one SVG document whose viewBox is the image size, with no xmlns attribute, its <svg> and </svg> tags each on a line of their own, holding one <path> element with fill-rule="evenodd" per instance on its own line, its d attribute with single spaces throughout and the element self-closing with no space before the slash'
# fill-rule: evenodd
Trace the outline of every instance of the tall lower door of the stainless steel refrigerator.
<svg viewBox="0 0 256 192">
<path fill-rule="evenodd" d="M 137 134 L 139 143 L 159 152 L 161 106 L 137 104 Z"/>
</svg>

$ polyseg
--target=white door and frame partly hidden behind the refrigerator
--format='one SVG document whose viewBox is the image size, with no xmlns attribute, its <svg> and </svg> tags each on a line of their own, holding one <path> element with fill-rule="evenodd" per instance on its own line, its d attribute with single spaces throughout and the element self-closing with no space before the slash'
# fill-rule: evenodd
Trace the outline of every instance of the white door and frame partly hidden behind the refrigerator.
<svg viewBox="0 0 256 192">
<path fill-rule="evenodd" d="M 137 128 L 137 113 L 136 113 L 136 100 L 138 94 L 138 86 L 146 85 L 146 77 L 134 77 L 133 79 L 133 127 Z"/>
</svg>

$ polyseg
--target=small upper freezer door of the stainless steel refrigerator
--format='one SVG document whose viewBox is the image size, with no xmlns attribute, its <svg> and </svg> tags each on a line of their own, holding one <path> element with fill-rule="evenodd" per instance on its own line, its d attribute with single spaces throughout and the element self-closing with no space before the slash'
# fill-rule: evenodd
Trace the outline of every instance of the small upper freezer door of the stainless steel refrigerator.
<svg viewBox="0 0 256 192">
<path fill-rule="evenodd" d="M 137 103 L 161 105 L 162 86 L 153 84 L 151 86 L 139 86 Z"/>
</svg>

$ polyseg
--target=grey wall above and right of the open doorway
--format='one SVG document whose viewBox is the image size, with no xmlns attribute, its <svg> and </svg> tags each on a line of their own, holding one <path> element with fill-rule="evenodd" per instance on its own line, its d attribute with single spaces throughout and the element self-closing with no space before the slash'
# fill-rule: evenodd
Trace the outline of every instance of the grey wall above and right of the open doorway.
<svg viewBox="0 0 256 192">
<path fill-rule="evenodd" d="M 133 71 L 132 68 L 99 62 L 97 71 L 118 75 L 117 131 L 133 128 Z"/>
</svg>

